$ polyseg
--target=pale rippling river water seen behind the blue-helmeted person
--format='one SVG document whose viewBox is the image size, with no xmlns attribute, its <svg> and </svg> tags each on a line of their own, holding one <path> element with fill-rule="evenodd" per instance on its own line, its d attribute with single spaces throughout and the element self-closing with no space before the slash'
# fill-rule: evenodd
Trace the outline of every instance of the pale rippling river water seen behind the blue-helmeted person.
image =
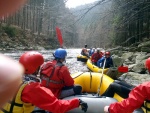
<svg viewBox="0 0 150 113">
<path fill-rule="evenodd" d="M 85 63 L 77 61 L 77 55 L 80 54 L 81 49 L 66 49 L 66 50 L 67 50 L 66 65 L 68 66 L 70 73 L 88 71 Z M 7 52 L 2 52 L 2 53 L 18 60 L 19 57 L 24 52 L 25 51 L 7 51 Z M 54 52 L 54 50 L 41 50 L 38 52 L 43 54 L 45 61 L 53 59 L 52 53 Z"/>
</svg>

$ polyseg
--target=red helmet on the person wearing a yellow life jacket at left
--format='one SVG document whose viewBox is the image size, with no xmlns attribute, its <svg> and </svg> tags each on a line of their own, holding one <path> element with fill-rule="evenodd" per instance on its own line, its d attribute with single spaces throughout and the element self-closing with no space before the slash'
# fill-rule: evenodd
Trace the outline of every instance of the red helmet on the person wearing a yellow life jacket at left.
<svg viewBox="0 0 150 113">
<path fill-rule="evenodd" d="M 28 51 L 22 54 L 19 62 L 25 68 L 25 74 L 33 74 L 44 63 L 42 54 L 36 51 Z"/>
</svg>

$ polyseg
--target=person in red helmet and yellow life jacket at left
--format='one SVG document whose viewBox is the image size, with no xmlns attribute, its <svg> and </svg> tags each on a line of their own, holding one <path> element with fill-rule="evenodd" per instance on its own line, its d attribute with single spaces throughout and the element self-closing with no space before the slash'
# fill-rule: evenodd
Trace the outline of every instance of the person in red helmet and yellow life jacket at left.
<svg viewBox="0 0 150 113">
<path fill-rule="evenodd" d="M 29 51 L 20 57 L 19 62 L 25 66 L 26 74 L 35 74 L 44 58 L 38 52 Z M 65 113 L 79 106 L 86 111 L 88 107 L 87 103 L 77 98 L 58 100 L 51 90 L 43 87 L 40 82 L 31 81 L 20 84 L 16 96 L 1 108 L 0 113 L 31 113 L 35 106 L 53 113 Z"/>
</svg>

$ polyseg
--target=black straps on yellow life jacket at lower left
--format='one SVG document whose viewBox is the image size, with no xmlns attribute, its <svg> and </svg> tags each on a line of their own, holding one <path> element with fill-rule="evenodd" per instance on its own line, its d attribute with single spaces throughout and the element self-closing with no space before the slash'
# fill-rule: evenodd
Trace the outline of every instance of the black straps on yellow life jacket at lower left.
<svg viewBox="0 0 150 113">
<path fill-rule="evenodd" d="M 23 84 L 24 84 L 24 83 L 22 83 L 22 84 L 19 86 L 19 89 L 20 89 L 20 87 L 21 87 Z M 9 111 L 6 111 L 5 109 L 1 108 L 1 110 L 2 110 L 4 113 L 13 113 L 13 108 L 14 108 L 14 106 L 23 107 L 23 104 L 19 104 L 19 103 L 16 103 L 16 102 L 15 102 L 16 96 L 17 96 L 17 93 L 16 93 L 16 95 L 14 96 L 13 100 L 8 102 L 8 103 L 11 104 Z"/>
</svg>

